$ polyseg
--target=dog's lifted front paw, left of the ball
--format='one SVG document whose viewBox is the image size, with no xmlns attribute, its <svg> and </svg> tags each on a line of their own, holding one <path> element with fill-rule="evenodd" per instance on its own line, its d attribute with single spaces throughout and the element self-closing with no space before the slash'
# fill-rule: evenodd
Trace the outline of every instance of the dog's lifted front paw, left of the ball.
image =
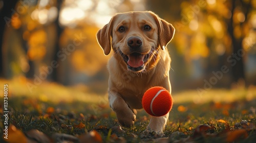
<svg viewBox="0 0 256 143">
<path fill-rule="evenodd" d="M 132 112 L 132 110 L 125 110 L 116 112 L 117 120 L 119 124 L 121 124 L 124 127 L 131 127 L 134 125 L 134 122 L 136 120 L 136 115 Z"/>
</svg>

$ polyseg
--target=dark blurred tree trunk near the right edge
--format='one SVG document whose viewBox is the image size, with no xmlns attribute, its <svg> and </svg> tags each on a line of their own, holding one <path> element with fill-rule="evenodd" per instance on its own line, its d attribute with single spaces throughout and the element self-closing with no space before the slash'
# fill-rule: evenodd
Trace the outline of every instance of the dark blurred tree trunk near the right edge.
<svg viewBox="0 0 256 143">
<path fill-rule="evenodd" d="M 245 50 L 243 50 L 242 41 L 247 33 L 243 31 L 248 25 L 248 14 L 252 11 L 252 1 L 235 1 L 232 0 L 229 4 L 231 10 L 231 18 L 228 19 L 228 33 L 232 41 L 232 61 L 236 63 L 232 66 L 232 77 L 234 82 L 238 82 L 240 79 L 245 79 L 244 74 L 244 56 Z"/>
</svg>

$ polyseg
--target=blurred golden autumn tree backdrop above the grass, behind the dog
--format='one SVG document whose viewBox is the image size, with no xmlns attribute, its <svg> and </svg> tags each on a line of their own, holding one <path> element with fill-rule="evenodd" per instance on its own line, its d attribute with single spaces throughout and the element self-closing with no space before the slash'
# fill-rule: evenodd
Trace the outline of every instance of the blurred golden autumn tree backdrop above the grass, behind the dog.
<svg viewBox="0 0 256 143">
<path fill-rule="evenodd" d="M 2 0 L 0 75 L 82 85 L 106 93 L 108 71 L 96 33 L 117 12 L 151 10 L 176 28 L 168 44 L 173 92 L 256 84 L 255 0 Z"/>
</svg>

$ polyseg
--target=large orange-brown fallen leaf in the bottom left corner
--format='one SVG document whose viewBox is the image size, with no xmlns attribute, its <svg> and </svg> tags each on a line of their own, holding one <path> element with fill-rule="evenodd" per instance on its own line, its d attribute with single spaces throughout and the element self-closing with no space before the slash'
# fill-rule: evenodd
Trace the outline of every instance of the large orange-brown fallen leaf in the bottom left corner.
<svg viewBox="0 0 256 143">
<path fill-rule="evenodd" d="M 28 139 L 25 136 L 25 134 L 18 130 L 15 126 L 10 125 L 8 128 L 8 139 L 4 138 L 6 142 L 12 142 L 12 143 L 27 143 Z"/>
</svg>

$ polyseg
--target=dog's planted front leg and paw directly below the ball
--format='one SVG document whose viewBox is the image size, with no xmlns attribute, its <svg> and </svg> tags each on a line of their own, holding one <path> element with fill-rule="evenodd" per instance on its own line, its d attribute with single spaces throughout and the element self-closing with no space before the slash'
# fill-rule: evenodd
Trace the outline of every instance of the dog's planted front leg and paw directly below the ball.
<svg viewBox="0 0 256 143">
<path fill-rule="evenodd" d="M 165 127 L 169 113 L 164 116 L 152 116 L 150 123 L 147 125 L 146 130 L 154 130 L 156 132 L 163 133 L 163 128 Z"/>
</svg>

